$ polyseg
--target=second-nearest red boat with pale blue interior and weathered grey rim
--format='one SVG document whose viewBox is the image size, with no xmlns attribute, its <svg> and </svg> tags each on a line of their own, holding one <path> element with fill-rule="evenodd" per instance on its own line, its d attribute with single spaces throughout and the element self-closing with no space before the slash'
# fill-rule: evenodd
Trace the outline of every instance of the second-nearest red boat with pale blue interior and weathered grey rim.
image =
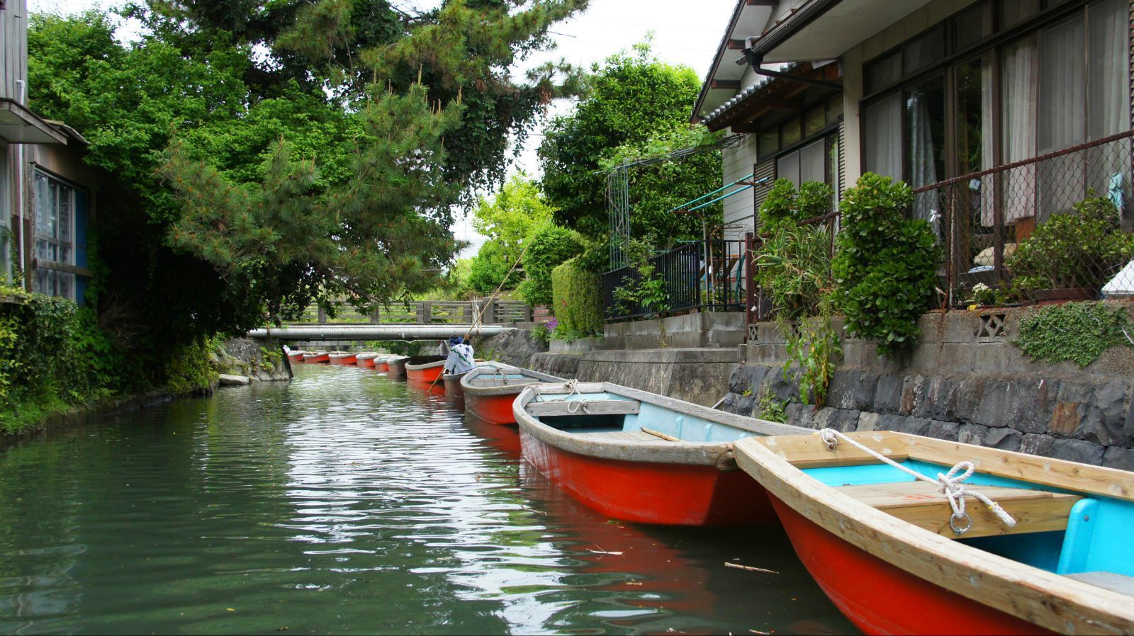
<svg viewBox="0 0 1134 636">
<path fill-rule="evenodd" d="M 609 382 L 530 384 L 513 402 L 524 458 L 584 504 L 645 524 L 775 523 L 731 442 L 805 429 Z"/>
</svg>

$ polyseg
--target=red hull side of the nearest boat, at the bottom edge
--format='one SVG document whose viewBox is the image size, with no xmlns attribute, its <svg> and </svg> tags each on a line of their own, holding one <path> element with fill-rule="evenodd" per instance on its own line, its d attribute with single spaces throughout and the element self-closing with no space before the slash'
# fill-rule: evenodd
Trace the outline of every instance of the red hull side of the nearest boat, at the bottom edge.
<svg viewBox="0 0 1134 636">
<path fill-rule="evenodd" d="M 892 566 L 770 499 L 812 578 L 866 634 L 1051 634 Z"/>
</svg>

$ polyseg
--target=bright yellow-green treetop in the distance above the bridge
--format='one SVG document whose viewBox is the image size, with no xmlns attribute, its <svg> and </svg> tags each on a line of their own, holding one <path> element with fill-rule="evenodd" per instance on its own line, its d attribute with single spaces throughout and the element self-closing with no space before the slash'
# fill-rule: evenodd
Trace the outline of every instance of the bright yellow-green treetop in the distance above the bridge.
<svg viewBox="0 0 1134 636">
<path fill-rule="evenodd" d="M 551 213 L 539 185 L 522 173 L 514 175 L 491 200 L 481 198 L 473 210 L 473 228 L 500 244 L 502 253 L 515 260 L 521 257 L 526 239 L 551 221 Z"/>
</svg>

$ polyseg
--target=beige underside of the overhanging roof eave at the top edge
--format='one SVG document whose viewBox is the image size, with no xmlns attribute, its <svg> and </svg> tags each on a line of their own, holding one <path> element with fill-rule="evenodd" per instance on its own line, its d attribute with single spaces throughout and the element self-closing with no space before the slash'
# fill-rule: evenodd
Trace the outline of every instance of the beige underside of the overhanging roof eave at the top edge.
<svg viewBox="0 0 1134 636">
<path fill-rule="evenodd" d="M 831 60 L 930 0 L 812 0 L 756 41 L 764 62 Z"/>
</svg>

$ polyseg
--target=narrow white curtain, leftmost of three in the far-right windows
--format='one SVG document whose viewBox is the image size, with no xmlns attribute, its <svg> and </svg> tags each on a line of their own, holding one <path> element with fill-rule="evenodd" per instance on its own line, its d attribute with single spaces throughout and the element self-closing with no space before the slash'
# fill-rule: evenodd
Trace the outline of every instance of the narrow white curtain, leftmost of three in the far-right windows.
<svg viewBox="0 0 1134 636">
<path fill-rule="evenodd" d="M 1029 39 L 1004 51 L 1001 74 L 1001 126 L 1005 163 L 1035 156 L 1035 40 Z M 1023 166 L 1004 177 L 1000 193 L 1005 224 L 1035 215 L 1035 168 Z"/>
</svg>

